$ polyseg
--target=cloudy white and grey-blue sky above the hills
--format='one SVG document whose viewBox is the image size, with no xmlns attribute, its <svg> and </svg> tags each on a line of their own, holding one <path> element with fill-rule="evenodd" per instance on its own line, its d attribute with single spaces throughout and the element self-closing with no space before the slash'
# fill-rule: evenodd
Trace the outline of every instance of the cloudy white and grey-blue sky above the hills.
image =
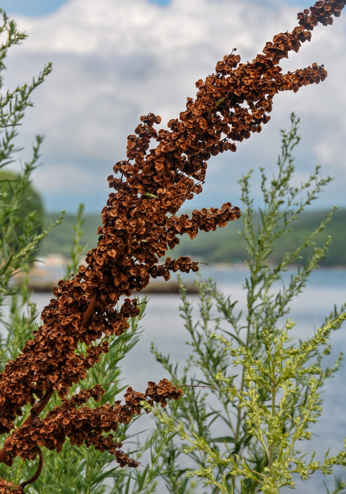
<svg viewBox="0 0 346 494">
<path fill-rule="evenodd" d="M 43 133 L 42 165 L 34 185 L 50 211 L 75 211 L 84 202 L 97 212 L 106 204 L 107 176 L 125 158 L 126 137 L 141 115 L 162 124 L 185 109 L 194 82 L 215 69 L 233 47 L 252 60 L 266 41 L 297 24 L 307 0 L 2 0 L 29 38 L 7 59 L 5 86 L 30 82 L 45 63 L 53 73 L 33 94 L 18 144 L 30 156 Z M 236 153 L 209 161 L 203 193 L 191 206 L 239 205 L 237 180 L 250 167 L 275 171 L 279 129 L 290 113 L 301 118 L 295 180 L 315 165 L 335 180 L 315 207 L 346 206 L 346 9 L 332 26 L 318 26 L 310 43 L 281 66 L 285 71 L 324 64 L 328 78 L 298 93 L 274 98 L 270 122 L 238 144 Z M 259 198 L 254 182 L 253 193 Z"/>
</svg>

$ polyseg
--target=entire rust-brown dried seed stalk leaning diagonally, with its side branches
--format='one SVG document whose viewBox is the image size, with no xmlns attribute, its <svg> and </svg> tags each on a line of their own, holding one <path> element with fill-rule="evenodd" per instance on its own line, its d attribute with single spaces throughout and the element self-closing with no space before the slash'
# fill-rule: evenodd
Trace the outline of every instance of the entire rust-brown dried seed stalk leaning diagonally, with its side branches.
<svg viewBox="0 0 346 494">
<path fill-rule="evenodd" d="M 113 453 L 121 465 L 136 466 L 125 453 L 119 453 L 120 445 L 113 436 L 102 432 L 116 430 L 119 421 L 140 412 L 140 400 L 149 397 L 164 406 L 166 399 L 176 399 L 180 390 L 167 381 L 158 387 L 149 383 L 145 394 L 128 388 L 125 405 L 91 409 L 83 406 L 86 395 L 66 399 L 69 389 L 108 352 L 107 338 L 120 335 L 128 319 L 139 313 L 136 299 L 129 298 L 116 310 L 122 295 L 140 291 L 151 277 L 167 280 L 170 271 L 198 269 L 189 257 L 167 257 L 159 263 L 159 258 L 179 243 L 178 236 L 194 238 L 199 230 L 215 230 L 239 218 L 239 208 L 231 203 L 195 210 L 191 216 L 176 213 L 186 200 L 201 192 L 211 156 L 235 151 L 234 141 L 261 131 L 262 124 L 269 121 L 276 93 L 296 92 L 325 79 L 326 71 L 316 63 L 287 74 L 278 63 L 309 41 L 318 23 L 331 24 L 332 16 L 339 16 L 345 3 L 317 1 L 298 14 L 299 26 L 275 36 L 252 62 L 240 63 L 233 52 L 226 55 L 217 63 L 215 74 L 196 82 L 196 98 L 188 98 L 179 119 L 168 122 L 169 130 L 155 130 L 160 117 L 141 117 L 135 134 L 128 136 L 127 159 L 117 162 L 115 176 L 108 177 L 114 192 L 102 210 L 97 247 L 88 252 L 86 265 L 79 267 L 74 279 L 59 282 L 54 289 L 56 298 L 42 311 L 43 325 L 0 375 L 0 433 L 13 429 L 13 420 L 25 404 L 30 403 L 34 410 L 6 439 L 0 461 L 10 463 L 16 455 L 33 458 L 40 445 L 59 451 L 67 436 L 72 444 L 93 444 Z M 88 345 L 85 354 L 77 352 L 78 342 Z M 38 420 L 53 390 L 58 391 L 62 405 Z M 97 399 L 95 393 L 90 391 L 90 397 Z M 1 489 L 0 485 L 0 493 L 10 492 Z"/>
</svg>

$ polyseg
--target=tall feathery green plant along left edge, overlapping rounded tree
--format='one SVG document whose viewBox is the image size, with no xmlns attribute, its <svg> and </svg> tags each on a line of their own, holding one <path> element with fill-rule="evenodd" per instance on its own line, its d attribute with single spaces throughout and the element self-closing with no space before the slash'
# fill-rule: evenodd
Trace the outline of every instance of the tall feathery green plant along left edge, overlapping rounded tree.
<svg viewBox="0 0 346 494">
<path fill-rule="evenodd" d="M 5 70 L 4 59 L 12 45 L 20 44 L 26 35 L 18 31 L 15 23 L 0 10 L 0 73 Z M 31 175 L 38 165 L 39 147 L 43 137 L 37 135 L 32 157 L 22 165 L 20 173 L 13 173 L 8 166 L 16 161 L 21 151 L 15 145 L 18 126 L 26 110 L 33 106 L 31 93 L 51 72 L 51 64 L 44 67 L 31 84 L 17 86 L 0 94 L 0 324 L 6 336 L 1 334 L 1 367 L 5 360 L 13 359 L 32 334 L 37 317 L 35 304 L 30 300 L 28 270 L 39 242 L 58 224 L 62 216 L 42 230 L 42 202 L 31 185 Z M 0 87 L 2 87 L 0 76 Z M 23 206 L 25 205 L 25 207 Z M 15 272 L 22 271 L 24 283 L 18 287 L 12 283 Z M 9 306 L 9 316 L 4 317 L 3 306 Z"/>
</svg>

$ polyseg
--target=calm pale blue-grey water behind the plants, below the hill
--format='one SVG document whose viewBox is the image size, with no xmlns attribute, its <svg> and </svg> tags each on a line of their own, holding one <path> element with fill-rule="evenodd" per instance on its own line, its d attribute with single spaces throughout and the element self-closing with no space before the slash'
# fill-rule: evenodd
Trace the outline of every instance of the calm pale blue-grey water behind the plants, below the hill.
<svg viewBox="0 0 346 494">
<path fill-rule="evenodd" d="M 202 267 L 202 278 L 212 277 L 217 281 L 218 288 L 224 293 L 230 294 L 233 300 L 238 300 L 238 307 L 245 308 L 246 292 L 242 288 L 247 271 L 244 268 L 212 269 Z M 194 275 L 189 275 L 192 280 Z M 289 275 L 288 275 L 289 276 Z M 43 308 L 49 301 L 50 294 L 36 294 L 35 301 L 38 308 Z M 189 295 L 189 299 L 196 301 L 195 295 Z M 295 335 L 302 339 L 313 334 L 326 316 L 334 308 L 334 304 L 340 307 L 346 301 L 346 269 L 319 269 L 312 273 L 308 286 L 304 292 L 291 304 L 291 320 L 298 324 L 295 327 Z M 183 362 L 190 353 L 190 347 L 185 344 L 188 339 L 187 330 L 183 320 L 179 316 L 180 298 L 178 295 L 150 295 L 146 307 L 146 315 L 142 320 L 143 333 L 140 341 L 128 359 L 124 359 L 122 376 L 126 378 L 124 383 L 138 391 L 144 391 L 147 381 L 158 382 L 165 377 L 165 371 L 155 362 L 150 352 L 153 341 L 155 346 L 164 355 L 170 354 L 171 360 Z M 346 349 L 346 325 L 334 332 L 331 343 L 332 354 L 328 358 L 328 364 L 332 364 L 336 355 Z M 318 424 L 312 429 L 314 437 L 309 442 L 302 442 L 303 452 L 316 451 L 316 459 L 330 448 L 331 453 L 337 453 L 343 449 L 346 438 L 346 399 L 345 399 L 346 365 L 329 380 L 323 392 L 323 415 Z M 145 428 L 145 427 L 143 427 Z M 222 431 L 225 433 L 225 431 Z M 309 456 L 309 455 L 308 455 Z M 338 470 L 346 480 L 346 472 Z M 314 473 L 305 484 L 297 482 L 297 494 L 315 494 L 326 492 L 323 486 L 323 476 Z M 333 487 L 333 479 L 325 479 L 328 486 Z M 333 489 L 331 489 L 331 492 Z M 163 488 L 162 494 L 166 492 Z M 204 489 L 201 492 L 207 492 Z M 282 490 L 286 493 L 288 490 Z M 291 492 L 291 491 L 289 491 Z"/>
</svg>

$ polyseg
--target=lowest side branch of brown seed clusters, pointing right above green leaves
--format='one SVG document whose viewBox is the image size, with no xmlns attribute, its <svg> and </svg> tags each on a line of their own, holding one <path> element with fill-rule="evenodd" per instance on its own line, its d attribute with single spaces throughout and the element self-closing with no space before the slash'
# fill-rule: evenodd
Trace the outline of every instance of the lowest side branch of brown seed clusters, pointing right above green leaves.
<svg viewBox="0 0 346 494">
<path fill-rule="evenodd" d="M 129 423 L 133 415 L 142 412 L 143 401 L 150 405 L 160 403 L 161 407 L 165 407 L 167 400 L 178 400 L 183 391 L 167 379 L 162 379 L 158 384 L 148 382 L 145 393 L 127 388 L 124 405 L 119 400 L 114 405 L 106 404 L 97 408 L 84 406 L 90 398 L 99 401 L 104 393 L 100 385 L 79 391 L 69 399 L 63 398 L 62 404 L 54 407 L 42 420 L 36 417 L 31 424 L 16 429 L 4 442 L 3 462 L 11 465 L 15 456 L 23 460 L 35 459 L 38 446 L 59 453 L 68 437 L 72 445 L 79 447 L 84 443 L 86 447 L 93 445 L 99 451 L 112 453 L 121 467 L 137 467 L 139 463 L 121 450 L 122 444 L 116 442 L 112 434 L 104 436 L 103 433 L 116 432 L 118 424 Z"/>
</svg>

